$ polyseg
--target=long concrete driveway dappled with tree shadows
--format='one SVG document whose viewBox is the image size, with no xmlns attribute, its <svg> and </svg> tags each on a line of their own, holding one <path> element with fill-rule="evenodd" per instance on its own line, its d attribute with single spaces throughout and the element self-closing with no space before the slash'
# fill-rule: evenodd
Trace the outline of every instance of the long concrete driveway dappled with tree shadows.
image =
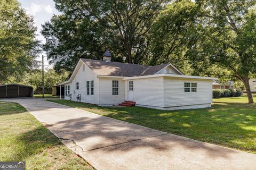
<svg viewBox="0 0 256 170">
<path fill-rule="evenodd" d="M 36 98 L 20 103 L 96 169 L 255 169 L 256 155 Z"/>
</svg>

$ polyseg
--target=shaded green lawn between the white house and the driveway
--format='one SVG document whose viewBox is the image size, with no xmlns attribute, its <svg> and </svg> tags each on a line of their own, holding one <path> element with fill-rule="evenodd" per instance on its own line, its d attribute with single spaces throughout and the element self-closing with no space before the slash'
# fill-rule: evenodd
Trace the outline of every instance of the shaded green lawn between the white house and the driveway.
<svg viewBox="0 0 256 170">
<path fill-rule="evenodd" d="M 255 97 L 254 100 L 256 101 Z M 214 99 L 222 103 L 213 103 L 212 108 L 179 111 L 143 107 L 99 107 L 69 100 L 50 101 L 256 154 L 256 104 L 244 103 L 246 96 Z"/>
</svg>

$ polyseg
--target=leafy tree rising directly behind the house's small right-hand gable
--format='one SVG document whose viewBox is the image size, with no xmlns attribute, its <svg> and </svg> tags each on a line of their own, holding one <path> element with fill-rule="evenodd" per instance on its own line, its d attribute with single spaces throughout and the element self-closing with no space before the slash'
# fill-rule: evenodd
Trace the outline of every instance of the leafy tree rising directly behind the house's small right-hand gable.
<svg viewBox="0 0 256 170">
<path fill-rule="evenodd" d="M 161 11 L 150 30 L 151 65 L 169 63 L 191 73 L 186 45 L 193 37 L 198 5 L 190 0 L 174 1 Z"/>
</svg>

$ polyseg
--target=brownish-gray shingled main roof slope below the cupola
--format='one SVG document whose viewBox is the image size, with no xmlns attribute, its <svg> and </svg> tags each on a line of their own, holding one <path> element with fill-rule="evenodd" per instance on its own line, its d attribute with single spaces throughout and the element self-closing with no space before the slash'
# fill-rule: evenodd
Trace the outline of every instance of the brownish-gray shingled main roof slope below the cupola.
<svg viewBox="0 0 256 170">
<path fill-rule="evenodd" d="M 161 64 L 156 66 L 128 64 L 119 62 L 106 62 L 101 60 L 90 60 L 81 58 L 81 60 L 90 67 L 97 75 L 137 77 L 141 75 L 152 75 L 162 70 L 169 64 Z"/>
</svg>

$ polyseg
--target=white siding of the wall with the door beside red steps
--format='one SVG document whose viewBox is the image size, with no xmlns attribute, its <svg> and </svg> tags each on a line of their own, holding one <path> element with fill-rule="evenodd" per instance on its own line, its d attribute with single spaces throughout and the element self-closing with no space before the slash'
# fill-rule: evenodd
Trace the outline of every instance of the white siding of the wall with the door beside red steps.
<svg viewBox="0 0 256 170">
<path fill-rule="evenodd" d="M 163 77 L 134 79 L 133 81 L 133 101 L 141 106 L 164 106 Z M 125 100 L 127 100 L 127 83 L 125 80 Z"/>
</svg>

